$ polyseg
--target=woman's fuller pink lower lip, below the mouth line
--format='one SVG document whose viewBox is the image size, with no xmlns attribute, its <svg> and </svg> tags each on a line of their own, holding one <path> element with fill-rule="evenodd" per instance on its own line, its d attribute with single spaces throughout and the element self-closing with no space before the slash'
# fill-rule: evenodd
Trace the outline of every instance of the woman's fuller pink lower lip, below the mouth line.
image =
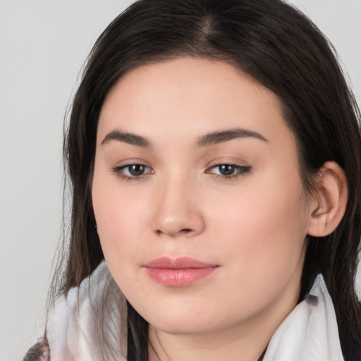
<svg viewBox="0 0 361 361">
<path fill-rule="evenodd" d="M 168 287 L 190 286 L 212 274 L 217 267 L 164 269 L 146 268 L 151 279 Z"/>
</svg>

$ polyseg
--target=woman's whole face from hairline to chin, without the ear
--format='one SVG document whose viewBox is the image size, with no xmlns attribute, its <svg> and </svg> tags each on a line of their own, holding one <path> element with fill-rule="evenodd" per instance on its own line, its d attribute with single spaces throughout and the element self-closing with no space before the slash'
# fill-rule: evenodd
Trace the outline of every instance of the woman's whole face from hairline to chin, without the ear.
<svg viewBox="0 0 361 361">
<path fill-rule="evenodd" d="M 118 81 L 92 201 L 111 274 L 156 329 L 249 329 L 298 300 L 310 207 L 295 139 L 276 95 L 226 62 L 161 61 Z"/>
</svg>

